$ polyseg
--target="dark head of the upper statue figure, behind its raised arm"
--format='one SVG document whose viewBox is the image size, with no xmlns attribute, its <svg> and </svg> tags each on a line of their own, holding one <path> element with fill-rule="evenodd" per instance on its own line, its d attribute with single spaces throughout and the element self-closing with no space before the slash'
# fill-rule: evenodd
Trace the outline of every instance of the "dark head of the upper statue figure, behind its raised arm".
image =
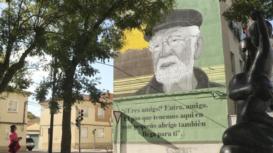
<svg viewBox="0 0 273 153">
<path fill-rule="evenodd" d="M 268 34 L 269 34 L 269 36 L 271 36 L 271 34 L 272 34 L 272 25 L 268 21 L 266 21 L 266 25 L 267 25 Z M 249 33 L 249 35 L 251 37 L 251 40 L 252 40 L 253 44 L 256 47 L 258 47 L 259 44 L 260 44 L 260 33 L 259 33 L 259 30 L 258 30 L 258 24 L 257 24 L 256 21 L 253 22 L 250 25 L 248 33 Z"/>
</svg>

